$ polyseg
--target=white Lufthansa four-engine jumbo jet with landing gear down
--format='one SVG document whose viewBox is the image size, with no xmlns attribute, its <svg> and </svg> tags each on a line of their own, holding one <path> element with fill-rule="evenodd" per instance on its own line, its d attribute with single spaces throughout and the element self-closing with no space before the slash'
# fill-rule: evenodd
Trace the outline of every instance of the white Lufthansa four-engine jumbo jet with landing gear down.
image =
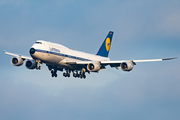
<svg viewBox="0 0 180 120">
<path fill-rule="evenodd" d="M 111 67 L 120 67 L 123 71 L 131 71 L 137 62 L 154 62 L 163 60 L 172 60 L 175 58 L 165 59 L 150 59 L 150 60 L 118 60 L 111 61 L 108 58 L 112 37 L 112 31 L 110 31 L 101 45 L 97 54 L 88 54 L 69 49 L 63 45 L 38 40 L 30 48 L 29 53 L 31 57 L 21 56 L 10 52 L 5 54 L 14 56 L 11 59 L 11 63 L 14 66 L 21 66 L 24 61 L 25 66 L 28 69 L 41 69 L 41 64 L 45 63 L 48 69 L 51 71 L 52 77 L 57 77 L 57 71 L 65 71 L 64 77 L 70 77 L 70 73 L 74 77 L 86 78 L 85 73 L 98 72 L 105 69 L 107 65 Z"/>
</svg>

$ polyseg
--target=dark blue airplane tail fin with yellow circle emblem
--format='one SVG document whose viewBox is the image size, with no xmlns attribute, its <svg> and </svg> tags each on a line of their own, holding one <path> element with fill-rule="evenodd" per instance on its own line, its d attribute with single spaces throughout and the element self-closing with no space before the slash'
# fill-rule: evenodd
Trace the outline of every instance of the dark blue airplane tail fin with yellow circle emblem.
<svg viewBox="0 0 180 120">
<path fill-rule="evenodd" d="M 107 37 L 105 38 L 103 44 L 101 45 L 99 51 L 97 52 L 96 55 L 102 56 L 102 57 L 108 57 L 109 50 L 111 47 L 111 42 L 112 42 L 112 37 L 113 37 L 112 31 L 109 31 Z"/>
</svg>

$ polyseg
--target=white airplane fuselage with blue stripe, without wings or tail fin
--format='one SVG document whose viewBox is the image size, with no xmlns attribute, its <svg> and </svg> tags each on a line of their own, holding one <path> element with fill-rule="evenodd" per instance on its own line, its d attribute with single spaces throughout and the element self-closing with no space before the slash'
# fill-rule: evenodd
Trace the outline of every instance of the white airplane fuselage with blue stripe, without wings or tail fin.
<svg viewBox="0 0 180 120">
<path fill-rule="evenodd" d="M 59 67 L 70 67 L 68 61 L 109 61 L 107 57 L 88 54 L 76 50 L 69 49 L 63 45 L 51 43 L 43 40 L 38 40 L 32 48 L 35 53 L 31 55 L 34 59 L 40 60 L 49 65 Z"/>
</svg>

